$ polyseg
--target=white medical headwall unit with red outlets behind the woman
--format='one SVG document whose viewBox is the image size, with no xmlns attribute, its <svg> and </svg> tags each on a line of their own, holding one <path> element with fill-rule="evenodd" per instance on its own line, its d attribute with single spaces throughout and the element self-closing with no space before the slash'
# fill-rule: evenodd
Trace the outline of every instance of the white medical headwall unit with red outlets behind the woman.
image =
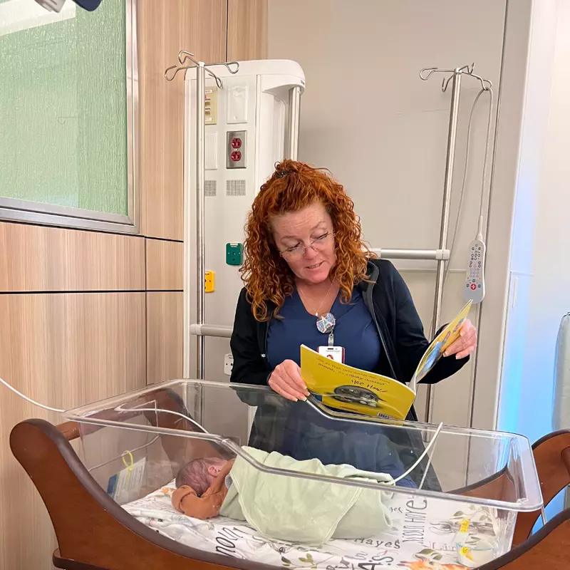
<svg viewBox="0 0 570 570">
<path fill-rule="evenodd" d="M 184 375 L 203 379 L 206 361 L 214 375 L 218 368 L 220 373 L 231 369 L 231 362 L 222 368 L 221 349 L 229 352 L 222 338 L 231 336 L 242 289 L 244 224 L 275 163 L 296 159 L 305 78 L 294 61 L 210 65 L 180 52 L 179 62 L 166 77 L 187 69 Z M 214 337 L 209 346 L 206 336 Z"/>
</svg>

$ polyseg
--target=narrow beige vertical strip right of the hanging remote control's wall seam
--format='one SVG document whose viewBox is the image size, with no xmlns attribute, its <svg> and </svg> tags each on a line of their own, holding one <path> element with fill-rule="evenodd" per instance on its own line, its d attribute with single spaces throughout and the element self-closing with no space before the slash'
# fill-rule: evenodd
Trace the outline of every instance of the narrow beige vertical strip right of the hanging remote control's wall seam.
<svg viewBox="0 0 570 570">
<path fill-rule="evenodd" d="M 487 296 L 481 306 L 479 348 L 473 390 L 472 427 L 497 427 L 497 400 L 504 354 L 512 349 L 512 335 L 505 340 L 507 327 L 524 330 L 524 316 L 509 315 L 507 306 L 513 291 L 510 271 L 514 202 L 520 165 L 522 123 L 526 100 L 529 31 L 532 0 L 508 0 L 504 30 L 501 81 L 497 103 L 494 159 L 487 233 Z M 524 294 L 524 288 L 519 292 Z M 511 359 L 511 366 L 517 361 Z M 516 406 L 512 398 L 503 400 L 505 406 Z"/>
</svg>

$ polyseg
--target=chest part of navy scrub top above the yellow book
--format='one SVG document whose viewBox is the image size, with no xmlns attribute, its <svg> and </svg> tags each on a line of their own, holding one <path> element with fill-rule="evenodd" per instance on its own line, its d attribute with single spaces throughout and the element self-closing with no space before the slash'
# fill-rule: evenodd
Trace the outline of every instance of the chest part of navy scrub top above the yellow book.
<svg viewBox="0 0 570 570">
<path fill-rule="evenodd" d="M 361 292 L 355 289 L 351 302 L 343 304 L 339 291 L 330 312 L 336 318 L 334 346 L 344 348 L 345 363 L 372 371 L 380 359 L 380 338 Z M 301 366 L 301 344 L 314 351 L 328 344 L 328 333 L 318 331 L 317 317 L 305 309 L 297 291 L 286 297 L 279 314 L 282 318 L 269 323 L 267 358 L 271 368 L 286 360 Z"/>
</svg>

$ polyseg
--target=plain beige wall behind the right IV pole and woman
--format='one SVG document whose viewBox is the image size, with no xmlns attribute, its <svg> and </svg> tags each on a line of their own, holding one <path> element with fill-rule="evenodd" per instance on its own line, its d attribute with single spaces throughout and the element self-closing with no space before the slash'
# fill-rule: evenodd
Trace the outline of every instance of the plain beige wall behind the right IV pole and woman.
<svg viewBox="0 0 570 570">
<path fill-rule="evenodd" d="M 504 0 L 270 0 L 269 58 L 299 61 L 306 74 L 299 158 L 328 167 L 346 186 L 373 247 L 437 247 L 450 92 L 442 93 L 440 77 L 423 82 L 418 74 L 423 67 L 453 68 L 475 62 L 476 72 L 498 86 L 504 18 Z M 464 81 L 454 221 L 467 118 L 477 90 L 475 81 Z M 479 209 L 485 105 L 486 101 L 478 105 L 474 116 L 470 177 L 443 318 L 452 317 L 463 303 L 465 255 L 475 237 Z M 507 214 L 510 217 L 511 212 Z M 397 266 L 429 329 L 435 264 L 400 262 Z M 497 297 L 497 306 L 504 306 L 504 287 L 494 290 L 489 286 L 489 296 Z M 476 317 L 477 310 L 472 311 L 472 320 Z M 494 311 L 493 318 L 499 323 L 494 328 L 500 329 L 501 312 Z M 489 348 L 498 358 L 497 341 Z M 468 366 L 437 386 L 435 420 L 467 423 L 471 372 Z M 422 402 L 418 398 L 418 412 L 423 411 Z"/>
</svg>

